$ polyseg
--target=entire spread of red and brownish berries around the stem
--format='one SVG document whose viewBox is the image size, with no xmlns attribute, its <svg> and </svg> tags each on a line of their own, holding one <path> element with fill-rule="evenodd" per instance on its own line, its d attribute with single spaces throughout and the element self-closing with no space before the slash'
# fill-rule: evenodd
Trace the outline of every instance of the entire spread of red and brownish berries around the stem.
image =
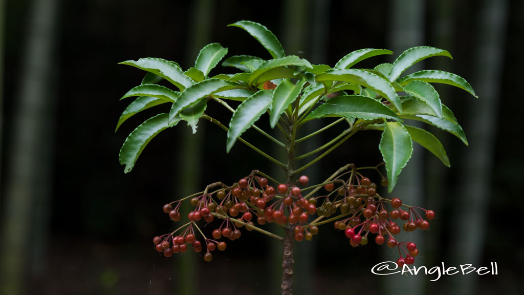
<svg viewBox="0 0 524 295">
<path fill-rule="evenodd" d="M 242 232 L 239 228 L 242 227 L 281 239 L 256 226 L 255 218 L 258 225 L 274 222 L 293 227 L 294 239 L 297 241 L 311 240 L 313 235 L 318 234 L 318 225 L 334 222 L 336 229 L 344 230 L 353 247 L 366 245 L 370 234 L 376 234 L 375 243 L 378 245 L 386 243 L 387 237 L 388 247 L 398 247 L 400 258 L 397 264 L 412 264 L 414 257 L 418 255 L 417 246 L 414 243 L 399 243 L 395 239 L 394 236 L 400 233 L 400 226 L 394 220 L 404 221 L 402 229 L 405 231 L 417 228 L 425 230 L 429 227 L 428 220 L 434 218 L 434 212 L 402 204 L 399 198 L 381 197 L 377 194 L 377 185 L 358 170 L 352 167 L 350 172 L 333 180 L 305 188 L 309 183 L 309 178 L 305 175 L 300 176 L 296 183 L 278 184 L 275 188 L 258 171 L 253 171 L 232 186 L 220 182 L 208 185 L 201 193 L 163 206 L 163 211 L 174 222 L 181 219 L 179 208 L 185 199 L 190 199 L 194 209 L 188 214 L 189 223 L 171 234 L 154 238 L 156 250 L 170 257 L 173 253 L 185 252 L 187 244 L 191 244 L 195 252 L 201 252 L 202 244 L 205 243 L 207 251 L 204 260 L 211 261 L 212 251 L 216 248 L 223 251 L 226 248 L 225 241 L 218 240 L 240 238 Z M 341 177 L 348 173 L 351 173 L 350 177 L 343 180 Z M 387 186 L 387 178 L 382 177 L 380 184 Z M 308 198 L 322 186 L 329 192 L 327 195 Z M 208 192 L 217 187 L 219 189 L 216 191 Z M 308 196 L 302 195 L 302 191 L 313 188 L 314 191 Z M 317 207 L 318 204 L 321 205 Z M 388 209 L 389 207 L 391 208 Z M 425 219 L 417 209 L 424 211 Z M 314 214 L 318 218 L 310 220 L 310 215 Z M 331 217 L 332 215 L 335 216 Z M 328 217 L 331 218 L 322 220 Z M 206 238 L 196 222 L 203 219 L 205 223 L 211 223 L 215 218 L 222 219 L 222 224 L 212 231 L 213 239 Z M 204 238 L 203 243 L 196 239 L 194 228 Z M 182 234 L 176 234 L 183 229 Z M 404 252 L 404 257 L 401 251 Z"/>
</svg>

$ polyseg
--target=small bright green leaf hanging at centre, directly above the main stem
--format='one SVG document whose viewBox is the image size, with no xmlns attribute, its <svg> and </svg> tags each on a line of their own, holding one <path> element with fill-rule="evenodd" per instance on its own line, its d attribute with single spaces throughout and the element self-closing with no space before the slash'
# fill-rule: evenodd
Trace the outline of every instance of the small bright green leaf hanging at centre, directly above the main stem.
<svg viewBox="0 0 524 295">
<path fill-rule="evenodd" d="M 283 80 L 273 92 L 271 113 L 269 114 L 269 124 L 275 128 L 280 115 L 286 111 L 286 108 L 293 103 L 305 84 L 305 79 L 301 79 L 294 85 L 289 80 Z"/>
</svg>

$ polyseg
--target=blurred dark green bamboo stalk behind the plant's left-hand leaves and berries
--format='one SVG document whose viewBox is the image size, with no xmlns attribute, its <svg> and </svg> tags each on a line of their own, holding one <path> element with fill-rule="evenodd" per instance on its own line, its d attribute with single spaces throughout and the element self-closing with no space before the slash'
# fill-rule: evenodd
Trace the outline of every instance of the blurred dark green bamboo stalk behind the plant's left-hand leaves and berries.
<svg viewBox="0 0 524 295">
<path fill-rule="evenodd" d="M 185 52 L 185 60 L 187 62 L 187 68 L 193 67 L 193 61 L 196 59 L 200 49 L 210 43 L 213 15 L 214 15 L 214 2 L 212 0 L 198 0 L 193 2 L 191 8 L 192 20 L 190 34 L 188 34 L 188 45 L 187 51 Z M 190 64 L 191 63 L 191 64 Z M 179 181 L 176 183 L 177 191 L 176 194 L 181 196 L 190 195 L 194 192 L 199 192 L 200 186 L 202 185 L 202 153 L 204 146 L 204 127 L 205 124 L 199 122 L 198 132 L 192 134 L 191 128 L 182 124 L 179 153 L 180 157 L 177 159 Z M 187 216 L 191 210 L 189 202 L 182 202 L 180 212 L 182 216 Z M 198 273 L 198 267 L 196 262 L 199 257 L 193 252 L 188 251 L 184 255 L 180 256 L 177 260 L 177 280 L 176 288 L 183 294 L 192 295 L 197 294 L 198 289 L 196 286 L 195 273 Z"/>
</svg>

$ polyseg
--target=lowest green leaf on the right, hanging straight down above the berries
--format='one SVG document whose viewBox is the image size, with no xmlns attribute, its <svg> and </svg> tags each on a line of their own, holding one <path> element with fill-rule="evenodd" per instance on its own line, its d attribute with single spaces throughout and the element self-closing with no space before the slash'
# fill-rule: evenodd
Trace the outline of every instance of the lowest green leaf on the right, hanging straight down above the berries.
<svg viewBox="0 0 524 295">
<path fill-rule="evenodd" d="M 413 143 L 406 128 L 399 122 L 386 122 L 378 149 L 386 163 L 388 192 L 397 184 L 398 175 L 413 153 Z"/>
</svg>

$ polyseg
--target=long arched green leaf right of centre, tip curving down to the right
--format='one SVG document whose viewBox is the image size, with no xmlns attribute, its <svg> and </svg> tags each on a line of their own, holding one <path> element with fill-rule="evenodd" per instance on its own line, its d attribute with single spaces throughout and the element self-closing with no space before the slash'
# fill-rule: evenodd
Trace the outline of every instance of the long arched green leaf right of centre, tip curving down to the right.
<svg viewBox="0 0 524 295">
<path fill-rule="evenodd" d="M 317 82 L 345 81 L 371 88 L 373 91 L 394 104 L 398 110 L 402 111 L 402 105 L 395 88 L 391 86 L 391 83 L 388 80 L 381 78 L 374 73 L 357 69 L 333 69 L 317 75 L 315 80 Z"/>
</svg>

